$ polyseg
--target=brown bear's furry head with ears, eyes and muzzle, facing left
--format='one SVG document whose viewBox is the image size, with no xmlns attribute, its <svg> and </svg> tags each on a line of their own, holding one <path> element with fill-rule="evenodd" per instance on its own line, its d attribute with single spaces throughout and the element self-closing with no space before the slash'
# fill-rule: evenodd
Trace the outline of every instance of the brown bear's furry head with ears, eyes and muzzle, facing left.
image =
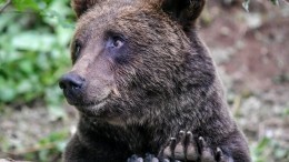
<svg viewBox="0 0 289 162">
<path fill-rule="evenodd" d="M 113 124 L 166 113 L 181 93 L 213 77 L 210 59 L 190 36 L 203 6 L 205 0 L 72 0 L 73 67 L 60 80 L 67 101 Z"/>
</svg>

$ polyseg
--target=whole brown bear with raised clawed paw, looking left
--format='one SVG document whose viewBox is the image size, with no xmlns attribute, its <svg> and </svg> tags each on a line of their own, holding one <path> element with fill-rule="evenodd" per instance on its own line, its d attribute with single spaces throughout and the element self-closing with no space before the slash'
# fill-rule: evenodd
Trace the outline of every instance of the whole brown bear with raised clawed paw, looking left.
<svg viewBox="0 0 289 162">
<path fill-rule="evenodd" d="M 72 0 L 73 67 L 59 84 L 80 119 L 66 162 L 139 161 L 146 153 L 148 161 L 250 161 L 197 33 L 203 6 Z"/>
</svg>

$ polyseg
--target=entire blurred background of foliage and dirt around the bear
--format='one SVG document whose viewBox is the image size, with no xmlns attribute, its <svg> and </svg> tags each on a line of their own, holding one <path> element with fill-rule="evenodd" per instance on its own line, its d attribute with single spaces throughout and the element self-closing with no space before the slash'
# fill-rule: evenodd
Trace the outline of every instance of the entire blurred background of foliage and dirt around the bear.
<svg viewBox="0 0 289 162">
<path fill-rule="evenodd" d="M 76 110 L 58 88 L 71 67 L 69 3 L 0 0 L 0 159 L 60 161 L 76 129 Z M 208 0 L 199 32 L 253 161 L 288 162 L 288 2 Z"/>
</svg>

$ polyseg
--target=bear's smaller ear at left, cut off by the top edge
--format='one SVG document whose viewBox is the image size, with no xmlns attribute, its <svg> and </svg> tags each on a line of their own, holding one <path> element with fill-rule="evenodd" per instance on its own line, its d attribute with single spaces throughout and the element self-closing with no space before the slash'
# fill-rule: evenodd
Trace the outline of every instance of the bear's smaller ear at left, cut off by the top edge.
<svg viewBox="0 0 289 162">
<path fill-rule="evenodd" d="M 71 6 L 79 18 L 88 9 L 92 8 L 96 3 L 101 0 L 71 0 Z"/>
</svg>

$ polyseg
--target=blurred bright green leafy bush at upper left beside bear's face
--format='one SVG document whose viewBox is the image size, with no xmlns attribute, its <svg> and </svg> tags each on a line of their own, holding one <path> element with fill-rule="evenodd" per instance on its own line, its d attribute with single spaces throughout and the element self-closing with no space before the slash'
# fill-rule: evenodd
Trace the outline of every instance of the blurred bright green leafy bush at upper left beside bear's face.
<svg viewBox="0 0 289 162">
<path fill-rule="evenodd" d="M 59 102 L 73 30 L 69 0 L 14 0 L 0 17 L 0 102 Z"/>
</svg>

